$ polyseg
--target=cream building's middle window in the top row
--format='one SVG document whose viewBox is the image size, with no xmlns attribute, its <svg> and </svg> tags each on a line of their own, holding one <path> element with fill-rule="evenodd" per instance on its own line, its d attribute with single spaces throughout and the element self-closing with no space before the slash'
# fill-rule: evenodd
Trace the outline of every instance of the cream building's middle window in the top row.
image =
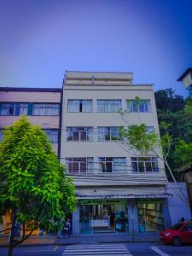
<svg viewBox="0 0 192 256">
<path fill-rule="evenodd" d="M 97 100 L 97 112 L 118 112 L 121 100 Z"/>
</svg>

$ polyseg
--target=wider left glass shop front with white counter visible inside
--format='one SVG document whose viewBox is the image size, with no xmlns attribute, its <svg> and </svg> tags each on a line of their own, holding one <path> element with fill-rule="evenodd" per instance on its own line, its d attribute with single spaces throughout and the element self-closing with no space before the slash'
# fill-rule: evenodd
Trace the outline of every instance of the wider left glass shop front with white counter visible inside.
<svg viewBox="0 0 192 256">
<path fill-rule="evenodd" d="M 81 201 L 88 203 L 88 201 Z M 80 233 L 127 232 L 127 201 L 89 201 L 91 205 L 80 205 Z"/>
</svg>

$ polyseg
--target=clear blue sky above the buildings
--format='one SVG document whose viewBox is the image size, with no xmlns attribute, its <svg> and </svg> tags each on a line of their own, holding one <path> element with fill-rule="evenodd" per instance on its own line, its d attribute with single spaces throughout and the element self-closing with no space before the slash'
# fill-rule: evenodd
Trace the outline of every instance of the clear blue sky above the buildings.
<svg viewBox="0 0 192 256">
<path fill-rule="evenodd" d="M 0 0 L 0 86 L 61 87 L 66 70 L 172 87 L 192 67 L 192 0 Z"/>
</svg>

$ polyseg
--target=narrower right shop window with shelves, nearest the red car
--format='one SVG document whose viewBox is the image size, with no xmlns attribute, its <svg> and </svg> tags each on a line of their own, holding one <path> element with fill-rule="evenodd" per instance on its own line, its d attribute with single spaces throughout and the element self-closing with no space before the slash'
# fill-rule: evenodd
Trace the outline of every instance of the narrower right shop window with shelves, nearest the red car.
<svg viewBox="0 0 192 256">
<path fill-rule="evenodd" d="M 163 201 L 137 201 L 137 211 L 140 232 L 159 232 L 164 230 Z"/>
</svg>

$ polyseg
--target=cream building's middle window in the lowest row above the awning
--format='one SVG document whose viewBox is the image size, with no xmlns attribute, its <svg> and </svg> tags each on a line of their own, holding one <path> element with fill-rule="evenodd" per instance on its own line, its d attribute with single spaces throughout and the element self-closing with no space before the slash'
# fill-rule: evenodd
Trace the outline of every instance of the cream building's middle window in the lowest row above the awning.
<svg viewBox="0 0 192 256">
<path fill-rule="evenodd" d="M 100 172 L 119 172 L 126 171 L 125 157 L 99 157 Z"/>
</svg>

